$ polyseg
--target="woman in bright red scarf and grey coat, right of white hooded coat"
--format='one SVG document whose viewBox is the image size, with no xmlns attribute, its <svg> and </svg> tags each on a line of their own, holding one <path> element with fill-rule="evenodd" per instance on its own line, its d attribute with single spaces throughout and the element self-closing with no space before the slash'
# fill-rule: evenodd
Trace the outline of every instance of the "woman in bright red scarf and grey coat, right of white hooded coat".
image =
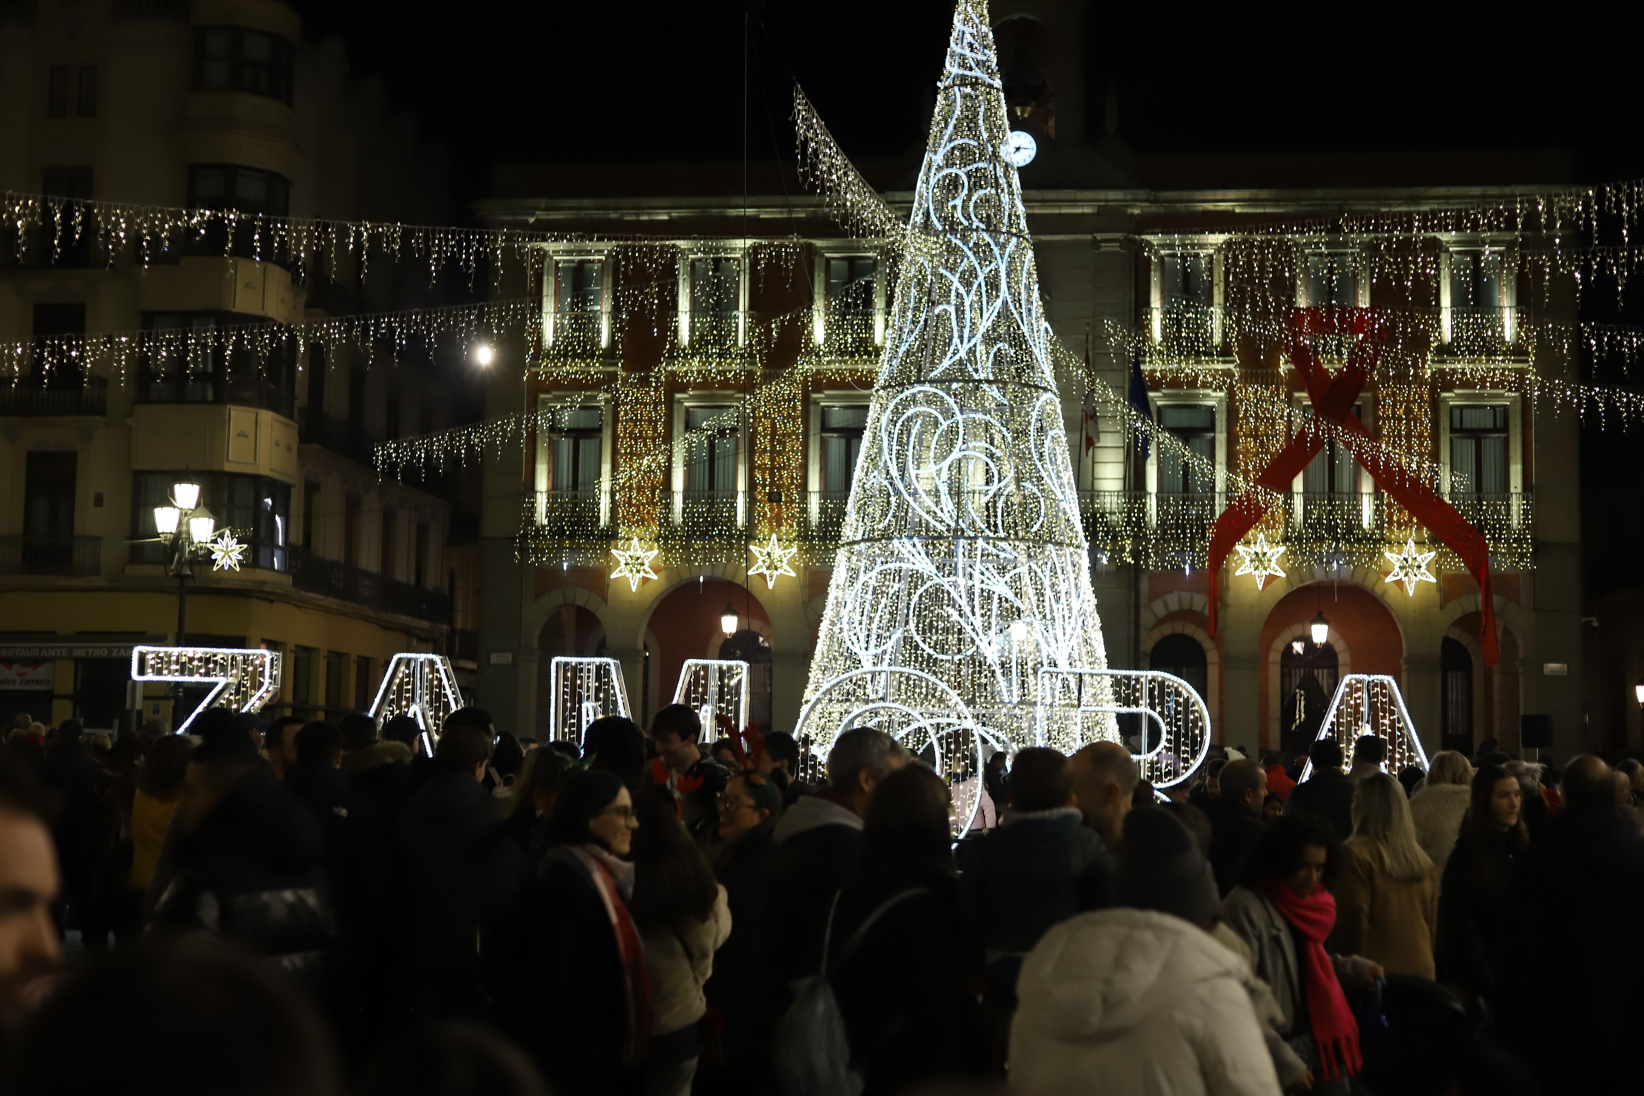
<svg viewBox="0 0 1644 1096">
<path fill-rule="evenodd" d="M 1363 956 L 1325 951 L 1335 899 L 1323 887 L 1335 864 L 1328 823 L 1305 812 L 1277 818 L 1245 861 L 1221 919 L 1249 945 L 1251 968 L 1272 986 L 1284 1047 L 1274 1065 L 1286 1093 L 1346 1093 L 1361 1068 L 1358 1022 L 1342 984 L 1369 984 L 1383 969 Z"/>
</svg>

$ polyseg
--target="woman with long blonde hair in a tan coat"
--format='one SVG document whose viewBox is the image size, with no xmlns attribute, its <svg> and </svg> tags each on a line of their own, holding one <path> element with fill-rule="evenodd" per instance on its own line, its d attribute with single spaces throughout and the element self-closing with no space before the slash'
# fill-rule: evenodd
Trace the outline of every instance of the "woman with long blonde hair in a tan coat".
<svg viewBox="0 0 1644 1096">
<path fill-rule="evenodd" d="M 1386 772 L 1358 782 L 1353 836 L 1342 846 L 1332 951 L 1363 955 L 1388 974 L 1434 976 L 1438 873 L 1422 851 L 1404 789 Z"/>
</svg>

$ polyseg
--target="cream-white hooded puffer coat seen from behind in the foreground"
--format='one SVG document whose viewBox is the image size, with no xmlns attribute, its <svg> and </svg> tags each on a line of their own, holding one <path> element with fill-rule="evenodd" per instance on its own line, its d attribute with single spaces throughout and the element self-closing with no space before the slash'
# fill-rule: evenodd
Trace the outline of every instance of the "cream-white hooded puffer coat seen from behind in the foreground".
<svg viewBox="0 0 1644 1096">
<path fill-rule="evenodd" d="M 1011 1091 L 1272 1096 L 1249 981 L 1238 956 L 1171 914 L 1065 920 L 1023 965 Z"/>
</svg>

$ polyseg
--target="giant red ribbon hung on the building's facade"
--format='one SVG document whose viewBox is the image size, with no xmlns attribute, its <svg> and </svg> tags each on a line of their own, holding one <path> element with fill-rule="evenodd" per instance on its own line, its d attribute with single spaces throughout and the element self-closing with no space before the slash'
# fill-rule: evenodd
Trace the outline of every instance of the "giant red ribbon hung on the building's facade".
<svg viewBox="0 0 1644 1096">
<path fill-rule="evenodd" d="M 1348 355 L 1346 366 L 1333 378 L 1314 353 L 1314 335 L 1358 335 Z M 1462 557 L 1462 564 L 1478 580 L 1480 608 L 1483 623 L 1478 646 L 1485 654 L 1485 665 L 1496 665 L 1499 654 L 1496 649 L 1496 600 L 1489 588 L 1489 546 L 1485 534 L 1475 529 L 1462 514 L 1455 511 L 1440 495 L 1420 477 L 1406 468 L 1401 462 L 1365 458 L 1358 442 L 1369 439 L 1369 431 L 1353 414 L 1353 403 L 1365 389 L 1376 361 L 1388 345 L 1386 320 L 1369 309 L 1295 309 L 1291 312 L 1291 365 L 1307 386 L 1307 399 L 1314 406 L 1314 419 L 1330 422 L 1342 429 L 1342 440 L 1356 460 L 1404 509 L 1411 513 L 1427 531 L 1445 547 Z M 1282 493 L 1302 473 L 1302 468 L 1323 449 L 1327 431 L 1302 429 L 1279 454 L 1268 462 L 1256 481 L 1248 486 L 1233 503 L 1221 511 L 1210 529 L 1210 634 L 1217 634 L 1217 585 L 1221 575 L 1221 564 L 1233 552 L 1233 546 L 1245 539 L 1263 514 L 1268 513 L 1272 493 Z"/>
</svg>

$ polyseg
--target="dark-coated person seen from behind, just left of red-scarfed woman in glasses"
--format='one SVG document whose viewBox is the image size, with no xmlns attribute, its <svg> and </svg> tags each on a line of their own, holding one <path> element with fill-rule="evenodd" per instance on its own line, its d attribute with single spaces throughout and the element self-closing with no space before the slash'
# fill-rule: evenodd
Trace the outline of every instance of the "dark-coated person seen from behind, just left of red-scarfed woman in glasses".
<svg viewBox="0 0 1644 1096">
<path fill-rule="evenodd" d="M 503 802 L 482 781 L 490 735 L 477 726 L 447 728 L 431 776 L 399 813 L 399 856 L 406 873 L 406 956 L 413 1006 L 423 1017 L 480 1011 L 475 935 L 513 881 L 496 825 Z"/>
</svg>

